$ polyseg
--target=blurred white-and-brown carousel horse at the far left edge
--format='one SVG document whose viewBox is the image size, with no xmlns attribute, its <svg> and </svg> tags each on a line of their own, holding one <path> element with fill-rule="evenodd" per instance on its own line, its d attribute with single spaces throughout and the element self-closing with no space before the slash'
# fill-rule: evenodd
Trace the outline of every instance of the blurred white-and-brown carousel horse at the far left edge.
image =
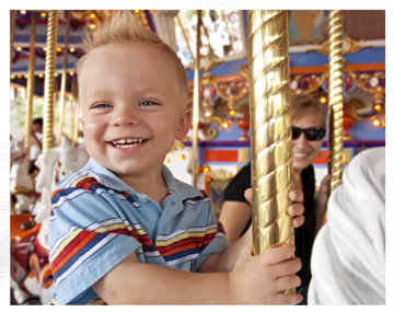
<svg viewBox="0 0 394 312">
<path fill-rule="evenodd" d="M 14 207 L 11 206 L 11 215 L 19 215 L 30 211 L 35 201 L 34 182 L 28 175 L 30 157 L 24 148 L 23 140 L 11 140 L 10 161 L 11 194 L 16 198 Z"/>
</svg>

